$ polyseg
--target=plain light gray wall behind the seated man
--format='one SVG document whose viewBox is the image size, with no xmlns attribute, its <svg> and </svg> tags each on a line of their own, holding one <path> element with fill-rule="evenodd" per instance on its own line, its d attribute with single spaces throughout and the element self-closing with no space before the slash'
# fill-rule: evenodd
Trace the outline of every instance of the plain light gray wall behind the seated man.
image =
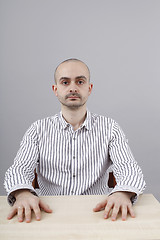
<svg viewBox="0 0 160 240">
<path fill-rule="evenodd" d="M 0 195 L 27 128 L 60 110 L 55 67 L 76 57 L 91 70 L 88 108 L 120 124 L 160 200 L 160 1 L 1 0 L 0 33 Z"/>
</svg>

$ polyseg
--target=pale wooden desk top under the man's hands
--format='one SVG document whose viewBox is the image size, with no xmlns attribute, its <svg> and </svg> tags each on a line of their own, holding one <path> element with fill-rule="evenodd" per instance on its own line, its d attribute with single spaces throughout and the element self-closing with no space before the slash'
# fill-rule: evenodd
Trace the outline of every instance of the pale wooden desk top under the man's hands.
<svg viewBox="0 0 160 240">
<path fill-rule="evenodd" d="M 103 211 L 92 211 L 105 196 L 42 197 L 53 209 L 42 213 L 42 220 L 31 223 L 7 220 L 10 209 L 6 197 L 0 197 L 0 239 L 2 240 L 103 240 L 160 239 L 160 203 L 152 194 L 139 197 L 134 206 L 136 218 L 103 219 Z"/>
</svg>

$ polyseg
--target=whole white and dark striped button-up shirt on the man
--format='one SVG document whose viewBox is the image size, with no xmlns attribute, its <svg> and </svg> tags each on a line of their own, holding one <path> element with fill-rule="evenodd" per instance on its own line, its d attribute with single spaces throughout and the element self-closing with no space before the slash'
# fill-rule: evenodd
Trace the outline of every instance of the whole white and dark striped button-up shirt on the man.
<svg viewBox="0 0 160 240">
<path fill-rule="evenodd" d="M 35 169 L 39 189 L 32 187 Z M 108 187 L 111 170 L 117 183 L 113 189 Z M 13 205 L 12 192 L 17 189 L 27 188 L 37 195 L 130 191 L 138 196 L 145 189 L 145 181 L 119 125 L 87 111 L 76 131 L 61 112 L 34 122 L 6 172 L 4 186 Z"/>
</svg>

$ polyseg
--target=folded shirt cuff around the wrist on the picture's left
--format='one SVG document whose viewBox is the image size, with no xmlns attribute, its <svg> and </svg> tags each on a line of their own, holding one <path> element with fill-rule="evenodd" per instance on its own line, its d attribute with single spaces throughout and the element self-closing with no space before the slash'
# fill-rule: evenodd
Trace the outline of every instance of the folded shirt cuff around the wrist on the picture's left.
<svg viewBox="0 0 160 240">
<path fill-rule="evenodd" d="M 28 184 L 23 184 L 23 185 L 16 185 L 15 187 L 13 187 L 9 193 L 8 193 L 8 196 L 7 196 L 7 201 L 9 203 L 9 205 L 13 206 L 14 203 L 16 202 L 16 198 L 15 196 L 13 195 L 13 192 L 15 192 L 16 190 L 21 190 L 21 189 L 28 189 L 30 190 L 30 192 L 32 194 L 34 194 L 35 196 L 38 197 L 38 194 L 36 193 L 35 189 L 31 186 L 31 185 L 28 185 Z"/>
</svg>

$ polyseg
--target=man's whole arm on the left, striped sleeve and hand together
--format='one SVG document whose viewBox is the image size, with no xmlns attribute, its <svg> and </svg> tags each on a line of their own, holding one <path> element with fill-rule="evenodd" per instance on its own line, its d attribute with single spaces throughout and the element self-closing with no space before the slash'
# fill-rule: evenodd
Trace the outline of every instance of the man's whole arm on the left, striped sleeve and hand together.
<svg viewBox="0 0 160 240">
<path fill-rule="evenodd" d="M 36 194 L 32 182 L 38 158 L 38 137 L 36 123 L 34 123 L 25 133 L 14 163 L 5 175 L 4 186 L 8 193 L 8 201 L 12 205 L 8 219 L 17 214 L 20 222 L 24 217 L 26 222 L 30 222 L 32 210 L 37 220 L 41 218 L 41 208 L 46 212 L 51 212 L 51 209 L 39 197 L 33 195 L 33 193 Z"/>
</svg>

